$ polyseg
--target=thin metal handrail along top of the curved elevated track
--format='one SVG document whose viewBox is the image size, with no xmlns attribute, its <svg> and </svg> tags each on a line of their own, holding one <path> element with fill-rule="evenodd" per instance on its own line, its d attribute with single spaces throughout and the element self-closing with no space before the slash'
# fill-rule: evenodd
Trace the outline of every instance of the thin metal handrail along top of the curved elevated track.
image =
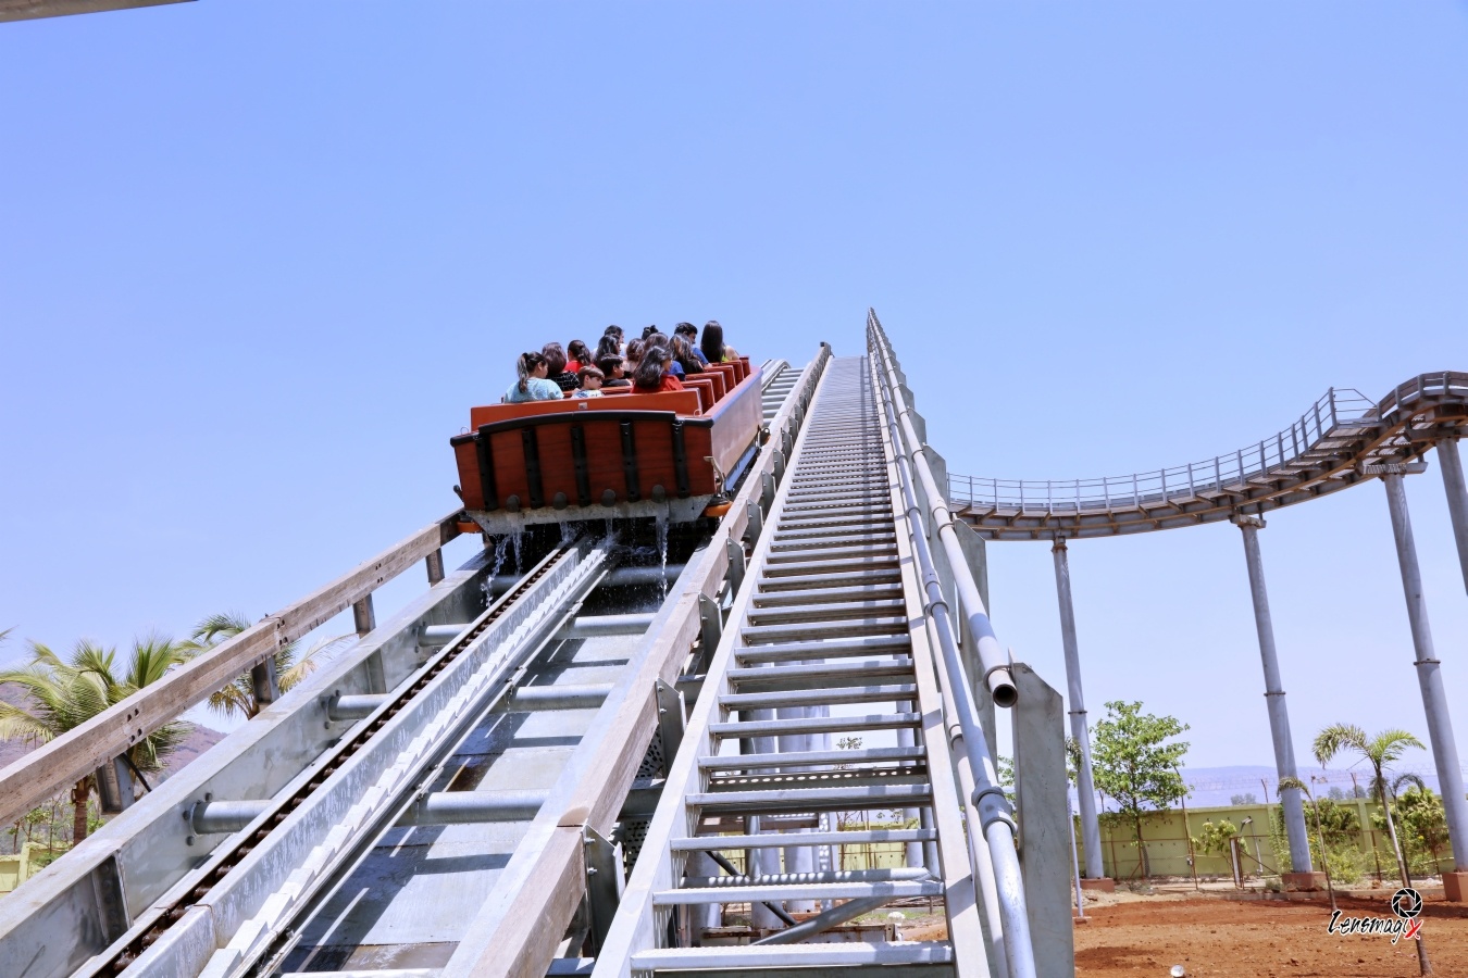
<svg viewBox="0 0 1468 978">
<path fill-rule="evenodd" d="M 950 474 L 948 499 L 970 509 L 1048 515 L 1141 509 L 1196 499 L 1289 468 L 1304 456 L 1329 447 L 1324 443 L 1376 425 L 1389 411 L 1420 399 L 1424 390 L 1468 390 L 1468 374 L 1418 377 L 1387 394 L 1380 405 L 1359 390 L 1331 387 L 1298 421 L 1267 438 L 1227 455 L 1151 472 L 1045 481 Z"/>
</svg>

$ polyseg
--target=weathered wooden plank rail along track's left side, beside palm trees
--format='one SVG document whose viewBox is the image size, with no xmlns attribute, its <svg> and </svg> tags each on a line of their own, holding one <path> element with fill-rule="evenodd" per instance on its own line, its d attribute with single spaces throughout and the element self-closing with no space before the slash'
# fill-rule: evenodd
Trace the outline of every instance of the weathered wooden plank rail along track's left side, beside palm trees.
<svg viewBox="0 0 1468 978">
<path fill-rule="evenodd" d="M 239 673 L 317 625 L 345 611 L 386 581 L 459 535 L 451 513 L 385 550 L 336 581 L 239 635 L 172 670 L 159 682 L 104 710 L 75 730 L 31 751 L 0 771 L 0 824 L 10 824 L 65 787 L 76 783 L 144 736 L 176 720 Z"/>
</svg>

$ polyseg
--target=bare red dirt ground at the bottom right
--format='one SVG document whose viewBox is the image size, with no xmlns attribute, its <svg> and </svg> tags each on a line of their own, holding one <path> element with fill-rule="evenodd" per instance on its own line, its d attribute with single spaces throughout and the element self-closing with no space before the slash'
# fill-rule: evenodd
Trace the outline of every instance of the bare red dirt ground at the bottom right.
<svg viewBox="0 0 1468 978">
<path fill-rule="evenodd" d="M 1390 916 L 1390 890 L 1337 894 L 1348 916 Z M 1434 974 L 1468 977 L 1468 906 L 1428 897 L 1422 937 Z M 1321 978 L 1415 978 L 1417 950 L 1390 937 L 1327 934 L 1330 905 L 1220 897 L 1142 897 L 1086 908 L 1076 927 L 1076 977 L 1167 975 L 1183 965 L 1189 978 L 1251 975 Z"/>
</svg>

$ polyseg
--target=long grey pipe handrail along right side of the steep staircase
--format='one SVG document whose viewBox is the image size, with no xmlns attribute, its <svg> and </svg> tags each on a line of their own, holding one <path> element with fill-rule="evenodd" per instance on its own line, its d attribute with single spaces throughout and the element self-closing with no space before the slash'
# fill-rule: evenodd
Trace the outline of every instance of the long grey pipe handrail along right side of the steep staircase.
<svg viewBox="0 0 1468 978">
<path fill-rule="evenodd" d="M 962 613 L 967 617 L 970 630 L 978 636 L 978 655 L 985 669 L 985 679 L 991 691 L 1007 691 L 1009 704 L 1013 704 L 1014 688 L 1009 679 L 1007 658 L 1003 664 L 994 663 L 994 650 L 998 641 L 988 622 L 984 601 L 979 598 L 978 587 L 969 570 L 967 560 L 954 535 L 953 515 L 948 512 L 942 497 L 937 494 L 937 482 L 932 466 L 923 455 L 923 444 L 913 428 L 910 411 L 898 393 L 897 368 L 891 346 L 882 333 L 882 326 L 873 311 L 868 311 L 868 348 L 872 359 L 879 364 L 876 372 L 882 383 L 878 384 L 881 394 L 882 415 L 887 421 L 893 449 L 897 456 L 897 477 L 901 485 L 903 506 L 907 512 L 909 537 L 913 545 L 916 569 L 922 575 L 923 584 L 923 613 L 938 638 L 941 664 L 944 673 L 944 692 L 951 692 L 954 713 L 957 713 L 959 727 L 963 732 L 963 749 L 973 776 L 972 804 L 978 809 L 978 833 L 984 836 L 989 853 L 989 865 L 985 867 L 970 850 L 970 862 L 975 880 L 995 894 L 1000 908 L 1000 918 L 1004 928 L 1004 957 L 1009 965 L 1010 978 L 1029 978 L 1035 975 L 1035 947 L 1029 933 L 1029 912 L 1025 905 L 1025 883 L 1020 874 L 1019 853 L 1014 849 L 1014 820 L 1010 812 L 1004 789 L 998 784 L 994 758 L 989 752 L 984 727 L 979 723 L 978 707 L 973 701 L 973 688 L 969 685 L 963 660 L 959 655 L 959 642 L 954 633 L 954 609 L 948 606 L 942 594 L 942 584 L 934 563 L 932 550 L 923 531 L 922 509 L 918 503 L 916 485 L 920 481 L 931 506 L 932 525 L 944 547 L 948 563 L 953 569 L 954 582 L 959 589 Z M 988 648 L 991 647 L 991 648 Z M 1001 702 L 998 696 L 997 702 Z M 975 831 L 975 827 L 969 827 Z"/>
</svg>

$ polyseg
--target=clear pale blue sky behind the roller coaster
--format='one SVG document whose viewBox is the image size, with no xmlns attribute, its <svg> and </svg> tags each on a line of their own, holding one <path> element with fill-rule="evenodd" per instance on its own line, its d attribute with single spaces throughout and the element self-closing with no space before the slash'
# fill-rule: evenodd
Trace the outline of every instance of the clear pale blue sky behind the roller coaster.
<svg viewBox="0 0 1468 978">
<path fill-rule="evenodd" d="M 12 655 L 292 601 L 454 506 L 517 352 L 608 323 L 803 361 L 875 306 L 950 468 L 1001 477 L 1468 369 L 1464 4 L 200 0 L 0 25 L 0 138 Z M 1436 466 L 1408 491 L 1468 704 Z M 1271 761 L 1238 537 L 1072 551 L 1091 705 L 1195 765 Z M 1301 755 L 1425 739 L 1380 485 L 1262 545 Z M 1063 686 L 1048 547 L 991 560 Z"/>
</svg>

